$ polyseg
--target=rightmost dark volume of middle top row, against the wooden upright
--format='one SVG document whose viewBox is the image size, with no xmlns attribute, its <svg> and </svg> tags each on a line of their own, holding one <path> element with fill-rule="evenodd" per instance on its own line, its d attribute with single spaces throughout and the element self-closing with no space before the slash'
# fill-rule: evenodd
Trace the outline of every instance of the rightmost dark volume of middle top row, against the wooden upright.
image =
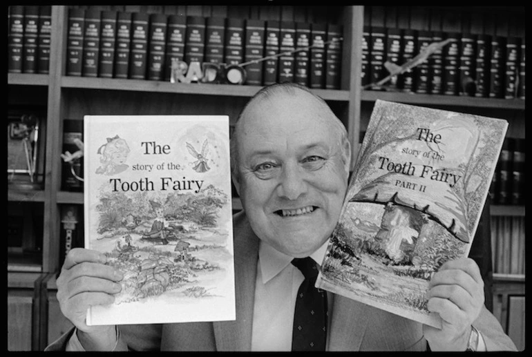
<svg viewBox="0 0 532 357">
<path fill-rule="evenodd" d="M 325 56 L 325 88 L 340 89 L 342 66 L 342 26 L 327 25 L 327 54 Z"/>
</svg>

